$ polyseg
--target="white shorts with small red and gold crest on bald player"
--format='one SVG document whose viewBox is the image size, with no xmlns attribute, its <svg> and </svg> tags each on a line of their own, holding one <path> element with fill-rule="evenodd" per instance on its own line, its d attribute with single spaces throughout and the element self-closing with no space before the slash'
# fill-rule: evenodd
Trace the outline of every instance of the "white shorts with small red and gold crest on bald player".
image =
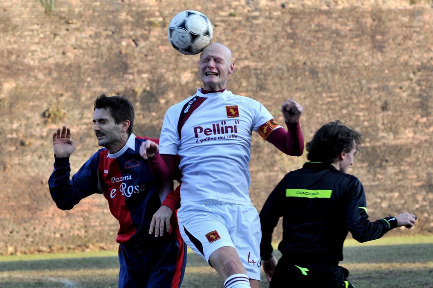
<svg viewBox="0 0 433 288">
<path fill-rule="evenodd" d="M 182 203 L 179 230 L 185 243 L 209 263 L 215 250 L 234 247 L 250 279 L 260 280 L 259 213 L 252 205 Z"/>
</svg>

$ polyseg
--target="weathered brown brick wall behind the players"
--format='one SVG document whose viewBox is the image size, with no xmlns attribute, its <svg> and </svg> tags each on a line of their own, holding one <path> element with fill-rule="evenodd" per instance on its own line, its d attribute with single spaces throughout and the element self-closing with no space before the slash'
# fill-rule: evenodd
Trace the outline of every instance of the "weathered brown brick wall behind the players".
<svg viewBox="0 0 433 288">
<path fill-rule="evenodd" d="M 90 3 L 89 3 L 90 2 Z M 421 1 L 418 1 L 421 2 Z M 93 100 L 127 95 L 135 133 L 159 136 L 167 108 L 201 85 L 198 56 L 166 36 L 171 17 L 196 9 L 213 23 L 213 42 L 231 48 L 228 88 L 261 101 L 279 122 L 286 98 L 304 106 L 306 140 L 340 119 L 364 135 L 350 173 L 365 186 L 372 218 L 410 211 L 417 235 L 433 231 L 433 10 L 428 1 L 39 1 L 0 9 L 0 253 L 49 247 L 115 247 L 118 229 L 102 196 L 71 211 L 52 202 L 51 137 L 71 127 L 76 171 L 92 155 Z M 45 111 L 50 109 L 50 117 Z M 61 120 L 56 121 L 60 118 Z M 63 118 L 62 118 L 63 117 Z M 253 136 L 251 195 L 260 209 L 305 155 L 282 155 Z M 278 236 L 278 234 L 277 234 Z"/>
</svg>

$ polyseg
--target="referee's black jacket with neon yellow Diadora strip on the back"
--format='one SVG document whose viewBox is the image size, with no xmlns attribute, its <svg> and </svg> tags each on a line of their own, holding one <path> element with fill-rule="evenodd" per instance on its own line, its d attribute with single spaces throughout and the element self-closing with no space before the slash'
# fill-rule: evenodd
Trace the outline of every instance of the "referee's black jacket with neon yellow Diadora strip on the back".
<svg viewBox="0 0 433 288">
<path fill-rule="evenodd" d="M 337 265 L 343 260 L 348 231 L 357 241 L 365 242 L 397 226 L 394 217 L 370 222 L 366 207 L 358 178 L 331 164 L 306 162 L 303 168 L 284 176 L 260 212 L 262 260 L 271 257 L 272 232 L 283 217 L 283 239 L 278 250 L 284 258 Z"/>
</svg>

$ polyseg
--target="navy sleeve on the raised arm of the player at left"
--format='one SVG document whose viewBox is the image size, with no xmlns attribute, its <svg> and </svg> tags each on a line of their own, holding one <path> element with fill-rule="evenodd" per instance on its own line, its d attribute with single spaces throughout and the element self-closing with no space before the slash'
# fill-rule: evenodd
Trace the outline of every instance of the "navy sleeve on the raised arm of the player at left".
<svg viewBox="0 0 433 288">
<path fill-rule="evenodd" d="M 54 170 L 48 179 L 51 197 L 61 210 L 72 209 L 81 199 L 98 189 L 98 154 L 95 153 L 80 170 L 72 176 L 69 157 L 55 157 Z"/>
</svg>

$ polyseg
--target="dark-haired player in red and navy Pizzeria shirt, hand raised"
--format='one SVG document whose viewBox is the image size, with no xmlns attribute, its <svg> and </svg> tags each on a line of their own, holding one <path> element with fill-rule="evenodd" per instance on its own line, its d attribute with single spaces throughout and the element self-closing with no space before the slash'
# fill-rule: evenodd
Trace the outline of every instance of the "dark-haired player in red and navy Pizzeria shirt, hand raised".
<svg viewBox="0 0 433 288">
<path fill-rule="evenodd" d="M 119 288 L 179 288 L 186 264 L 186 245 L 178 229 L 178 190 L 173 181 L 152 173 L 139 154 L 142 142 L 158 139 L 132 133 L 134 108 L 123 96 L 100 95 L 94 102 L 94 131 L 99 149 L 70 179 L 69 156 L 75 150 L 71 130 L 53 135 L 54 171 L 48 184 L 62 210 L 101 193 L 119 221 Z M 167 233 L 164 233 L 164 227 Z M 155 228 L 155 234 L 153 230 Z"/>
</svg>

